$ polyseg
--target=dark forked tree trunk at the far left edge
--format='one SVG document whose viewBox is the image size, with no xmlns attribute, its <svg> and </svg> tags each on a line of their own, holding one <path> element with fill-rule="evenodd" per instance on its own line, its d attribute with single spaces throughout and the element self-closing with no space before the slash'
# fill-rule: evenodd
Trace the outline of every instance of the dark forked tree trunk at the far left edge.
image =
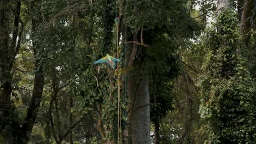
<svg viewBox="0 0 256 144">
<path fill-rule="evenodd" d="M 13 67 L 16 53 L 19 50 L 17 37 L 19 32 L 19 15 L 21 3 L 16 3 L 14 11 L 14 24 L 11 25 L 9 1 L 0 1 L 0 134 L 3 134 L 5 143 L 15 143 L 14 133 L 19 131 L 19 124 L 15 121 L 13 108 L 10 103 L 11 83 L 13 76 L 11 68 Z M 10 27 L 12 26 L 12 27 Z M 10 28 L 13 28 L 11 31 Z M 12 34 L 10 37 L 10 33 Z M 11 39 L 10 39 L 11 38 Z M 3 133 L 2 133 L 3 132 Z"/>
</svg>

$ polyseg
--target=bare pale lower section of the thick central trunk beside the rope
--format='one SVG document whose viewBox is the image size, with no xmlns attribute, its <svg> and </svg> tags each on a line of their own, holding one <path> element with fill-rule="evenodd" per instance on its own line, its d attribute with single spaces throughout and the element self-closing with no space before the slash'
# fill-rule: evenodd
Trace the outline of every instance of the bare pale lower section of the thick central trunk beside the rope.
<svg viewBox="0 0 256 144">
<path fill-rule="evenodd" d="M 132 143 L 150 143 L 150 111 L 148 77 L 129 75 L 127 94 L 130 101 L 128 106 L 130 125 L 129 136 Z"/>
</svg>

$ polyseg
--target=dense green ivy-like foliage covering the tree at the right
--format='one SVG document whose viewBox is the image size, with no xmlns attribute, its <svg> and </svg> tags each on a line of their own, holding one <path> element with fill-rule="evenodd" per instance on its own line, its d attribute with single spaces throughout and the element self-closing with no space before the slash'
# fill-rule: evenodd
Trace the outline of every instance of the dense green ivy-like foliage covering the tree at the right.
<svg viewBox="0 0 256 144">
<path fill-rule="evenodd" d="M 238 33 L 236 13 L 223 10 L 203 44 L 208 52 L 198 85 L 210 143 L 255 142 L 255 80 L 246 68 L 245 45 Z"/>
</svg>

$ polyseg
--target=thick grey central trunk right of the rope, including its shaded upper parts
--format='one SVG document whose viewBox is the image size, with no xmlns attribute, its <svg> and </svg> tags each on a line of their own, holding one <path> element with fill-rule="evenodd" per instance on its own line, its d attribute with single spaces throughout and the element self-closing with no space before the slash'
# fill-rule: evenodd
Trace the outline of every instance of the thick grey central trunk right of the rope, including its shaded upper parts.
<svg viewBox="0 0 256 144">
<path fill-rule="evenodd" d="M 129 40 L 138 41 L 138 33 L 134 32 Z M 127 40 L 126 40 L 127 41 Z M 136 58 L 138 45 L 133 43 L 127 48 L 126 65 L 138 66 L 139 69 L 127 74 L 127 113 L 128 113 L 128 141 L 129 143 L 150 143 L 150 109 L 149 109 L 149 76 L 144 70 L 143 58 Z M 146 54 L 146 53 L 145 53 Z"/>
</svg>

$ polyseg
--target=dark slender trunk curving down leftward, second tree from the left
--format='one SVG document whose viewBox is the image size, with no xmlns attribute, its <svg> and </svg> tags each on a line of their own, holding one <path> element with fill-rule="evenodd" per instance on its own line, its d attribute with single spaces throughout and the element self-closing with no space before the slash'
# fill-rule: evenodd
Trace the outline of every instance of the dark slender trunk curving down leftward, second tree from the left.
<svg viewBox="0 0 256 144">
<path fill-rule="evenodd" d="M 36 11 L 40 10 L 39 7 L 40 1 L 33 1 L 31 2 L 31 9 L 33 11 L 33 14 L 37 14 Z M 38 19 L 38 15 L 34 15 L 32 19 L 32 32 L 36 33 L 38 31 L 38 26 L 40 19 Z M 43 88 L 44 88 L 44 75 L 43 75 L 43 65 L 42 62 L 40 62 L 40 52 L 39 52 L 39 45 L 38 41 L 34 37 L 34 34 L 32 34 L 33 39 L 33 55 L 34 59 L 36 59 L 34 65 L 35 65 L 35 74 L 34 74 L 34 87 L 32 92 L 32 98 L 30 101 L 30 106 L 27 109 L 25 121 L 22 124 L 21 131 L 22 134 L 18 138 L 19 143 L 27 143 L 30 139 L 30 135 L 34 126 L 34 123 L 36 122 L 37 113 L 40 107 L 40 102 L 43 95 Z"/>
</svg>

